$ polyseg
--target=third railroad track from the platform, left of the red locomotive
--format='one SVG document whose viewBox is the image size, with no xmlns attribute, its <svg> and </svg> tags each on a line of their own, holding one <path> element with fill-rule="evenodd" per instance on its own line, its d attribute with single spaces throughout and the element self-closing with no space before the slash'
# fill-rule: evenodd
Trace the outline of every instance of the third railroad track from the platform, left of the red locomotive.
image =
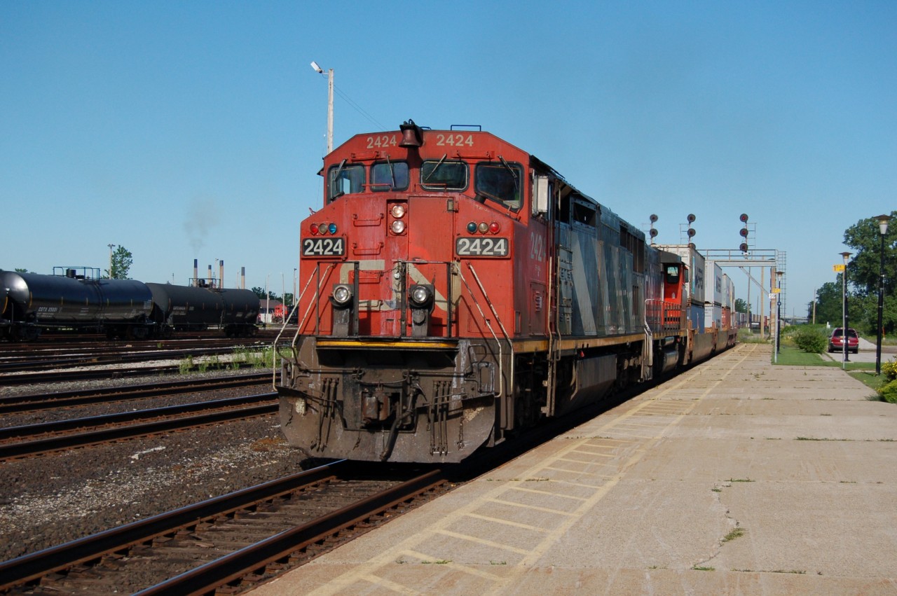
<svg viewBox="0 0 897 596">
<path fill-rule="evenodd" d="M 0 414 L 22 414 L 31 411 L 70 408 L 92 403 L 121 402 L 178 393 L 232 389 L 262 384 L 270 380 L 271 372 L 265 371 L 240 376 L 219 376 L 186 381 L 157 381 L 149 384 L 121 385 L 118 387 L 8 395 L 0 397 Z"/>
</svg>

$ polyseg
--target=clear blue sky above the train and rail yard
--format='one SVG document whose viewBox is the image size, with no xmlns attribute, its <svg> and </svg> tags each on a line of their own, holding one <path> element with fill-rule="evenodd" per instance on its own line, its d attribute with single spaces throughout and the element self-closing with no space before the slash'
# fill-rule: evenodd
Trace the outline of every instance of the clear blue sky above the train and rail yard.
<svg viewBox="0 0 897 596">
<path fill-rule="evenodd" d="M 105 269 L 113 243 L 142 281 L 221 259 L 290 291 L 321 203 L 315 60 L 335 145 L 482 125 L 668 244 L 694 213 L 699 248 L 735 249 L 746 212 L 803 315 L 844 230 L 897 208 L 895 31 L 893 1 L 5 0 L 0 268 Z"/>
</svg>

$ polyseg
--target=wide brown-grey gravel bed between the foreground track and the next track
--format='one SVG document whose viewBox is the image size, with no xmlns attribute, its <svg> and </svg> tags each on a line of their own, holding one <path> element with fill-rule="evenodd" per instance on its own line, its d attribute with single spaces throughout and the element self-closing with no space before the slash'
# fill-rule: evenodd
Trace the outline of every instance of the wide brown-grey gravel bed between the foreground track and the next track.
<svg viewBox="0 0 897 596">
<path fill-rule="evenodd" d="M 247 393 L 252 392 L 243 392 Z M 192 394 L 189 399 L 200 401 L 196 397 Z M 72 417 L 82 415 L 87 414 Z M 2 417 L 0 423 L 7 426 Z M 0 560 L 281 478 L 313 464 L 285 444 L 276 415 L 2 462 Z"/>
</svg>

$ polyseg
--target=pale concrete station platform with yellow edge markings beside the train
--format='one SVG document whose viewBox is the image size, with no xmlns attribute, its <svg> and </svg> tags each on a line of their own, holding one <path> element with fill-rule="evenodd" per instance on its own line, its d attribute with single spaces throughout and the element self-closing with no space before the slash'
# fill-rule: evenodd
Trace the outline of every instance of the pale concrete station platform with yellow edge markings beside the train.
<svg viewBox="0 0 897 596">
<path fill-rule="evenodd" d="M 254 594 L 897 592 L 897 406 L 742 344 Z"/>
</svg>

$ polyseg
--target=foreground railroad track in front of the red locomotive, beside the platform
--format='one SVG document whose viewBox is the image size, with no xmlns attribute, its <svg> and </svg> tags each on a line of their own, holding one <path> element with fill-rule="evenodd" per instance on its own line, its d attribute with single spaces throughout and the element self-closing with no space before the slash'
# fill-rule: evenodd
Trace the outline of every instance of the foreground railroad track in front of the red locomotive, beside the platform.
<svg viewBox="0 0 897 596">
<path fill-rule="evenodd" d="M 0 591 L 233 593 L 451 486 L 440 470 L 381 470 L 333 462 L 5 561 Z"/>
</svg>

